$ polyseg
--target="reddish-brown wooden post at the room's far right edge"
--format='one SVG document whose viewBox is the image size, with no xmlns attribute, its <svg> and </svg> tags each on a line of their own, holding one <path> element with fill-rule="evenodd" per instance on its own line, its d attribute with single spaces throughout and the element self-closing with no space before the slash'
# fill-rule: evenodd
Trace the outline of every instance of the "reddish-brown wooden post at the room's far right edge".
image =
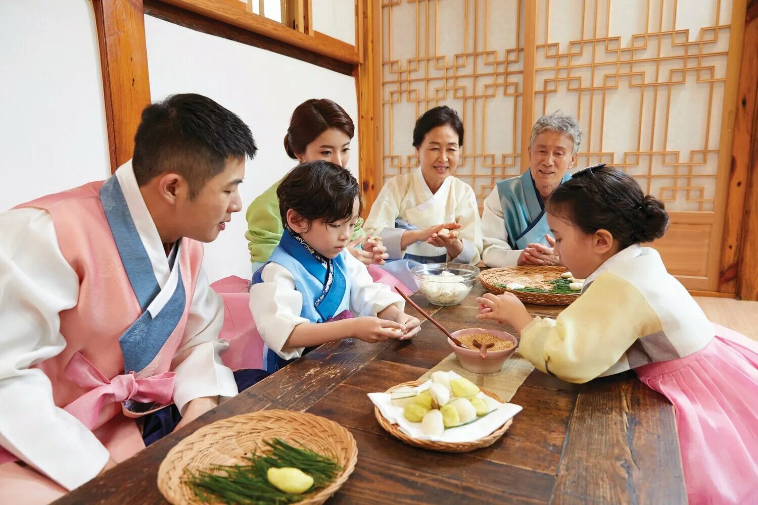
<svg viewBox="0 0 758 505">
<path fill-rule="evenodd" d="M 756 37 L 758 31 L 758 2 L 751 2 L 750 10 L 747 11 L 747 24 L 745 31 L 751 33 L 751 37 Z M 745 48 L 747 58 L 742 61 L 743 71 L 745 67 L 752 67 L 753 91 L 758 86 L 758 51 L 756 51 L 756 42 L 753 39 L 752 48 L 747 45 L 747 36 L 745 37 Z M 747 173 L 745 177 L 745 205 L 744 217 L 742 223 L 742 248 L 739 256 L 738 268 L 738 298 L 742 300 L 758 300 L 758 100 L 753 104 L 756 108 L 753 111 L 753 130 L 752 142 L 750 147 L 750 161 L 748 162 Z"/>
</svg>

